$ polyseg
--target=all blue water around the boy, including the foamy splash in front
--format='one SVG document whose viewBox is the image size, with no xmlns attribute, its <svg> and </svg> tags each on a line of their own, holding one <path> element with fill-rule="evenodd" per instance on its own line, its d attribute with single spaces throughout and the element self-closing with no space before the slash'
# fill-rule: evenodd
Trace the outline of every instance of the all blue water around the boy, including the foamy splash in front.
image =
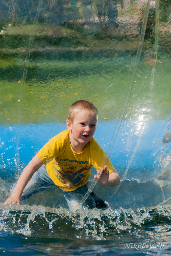
<svg viewBox="0 0 171 256">
<path fill-rule="evenodd" d="M 4 206 L 10 185 L 34 154 L 65 124 L 1 127 L 0 255 L 171 255 L 170 181 L 160 181 L 168 120 L 124 121 L 110 159 L 121 177 L 114 188 L 96 184 L 106 210 L 67 209 L 62 193 L 50 189 Z M 95 138 L 108 151 L 116 121 L 99 122 Z M 111 131 L 107 133 L 106 131 Z M 19 139 L 18 139 L 19 138 Z M 165 145 L 164 158 L 170 151 Z M 93 181 L 93 174 L 89 185 Z"/>
</svg>

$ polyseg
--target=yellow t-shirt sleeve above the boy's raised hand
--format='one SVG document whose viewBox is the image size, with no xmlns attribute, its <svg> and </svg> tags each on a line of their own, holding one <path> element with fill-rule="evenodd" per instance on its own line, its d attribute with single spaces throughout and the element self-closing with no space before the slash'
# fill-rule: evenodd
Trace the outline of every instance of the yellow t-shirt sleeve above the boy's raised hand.
<svg viewBox="0 0 171 256">
<path fill-rule="evenodd" d="M 90 154 L 92 158 L 92 164 L 97 171 L 100 167 L 104 167 L 105 165 L 107 166 L 109 173 L 115 170 L 109 157 L 107 157 L 103 148 L 97 143 L 94 138 L 92 138 L 90 141 Z"/>
</svg>

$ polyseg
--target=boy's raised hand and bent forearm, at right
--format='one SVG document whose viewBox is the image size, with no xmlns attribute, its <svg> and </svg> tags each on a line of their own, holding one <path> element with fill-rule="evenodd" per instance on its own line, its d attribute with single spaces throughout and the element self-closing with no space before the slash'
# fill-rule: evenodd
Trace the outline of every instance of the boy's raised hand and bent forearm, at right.
<svg viewBox="0 0 171 256">
<path fill-rule="evenodd" d="M 107 170 L 107 166 L 104 168 L 100 168 L 96 175 L 94 175 L 94 179 L 102 186 L 113 187 L 119 184 L 120 177 L 117 171 L 114 169 L 113 172 L 109 173 Z"/>
</svg>

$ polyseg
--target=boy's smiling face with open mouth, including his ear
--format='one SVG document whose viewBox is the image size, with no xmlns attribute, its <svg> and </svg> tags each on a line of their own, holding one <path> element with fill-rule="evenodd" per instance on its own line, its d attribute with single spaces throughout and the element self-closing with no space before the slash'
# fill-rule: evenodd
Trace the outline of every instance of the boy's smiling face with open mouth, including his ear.
<svg viewBox="0 0 171 256">
<path fill-rule="evenodd" d="M 83 147 L 93 137 L 97 126 L 96 115 L 90 114 L 87 110 L 81 110 L 75 114 L 74 120 L 67 120 L 67 128 L 70 130 L 70 141 Z"/>
</svg>

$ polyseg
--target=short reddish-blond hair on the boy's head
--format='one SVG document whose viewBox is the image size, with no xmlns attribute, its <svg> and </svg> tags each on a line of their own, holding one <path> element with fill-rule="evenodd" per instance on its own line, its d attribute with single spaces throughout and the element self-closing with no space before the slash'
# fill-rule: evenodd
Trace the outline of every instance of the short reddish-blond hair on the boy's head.
<svg viewBox="0 0 171 256">
<path fill-rule="evenodd" d="M 98 121 L 98 111 L 95 105 L 88 100 L 75 101 L 69 108 L 68 120 L 72 122 L 75 118 L 75 114 L 82 110 L 88 110 L 90 112 L 90 115 L 95 115 L 96 120 Z"/>
</svg>

